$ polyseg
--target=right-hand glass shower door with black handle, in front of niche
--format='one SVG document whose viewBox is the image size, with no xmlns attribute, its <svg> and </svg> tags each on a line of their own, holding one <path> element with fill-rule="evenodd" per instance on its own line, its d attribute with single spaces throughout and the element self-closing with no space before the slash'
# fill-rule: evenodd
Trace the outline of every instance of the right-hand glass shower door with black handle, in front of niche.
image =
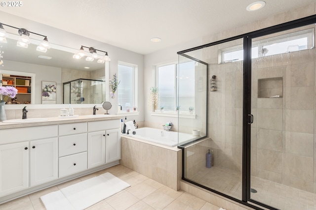
<svg viewBox="0 0 316 210">
<path fill-rule="evenodd" d="M 250 199 L 281 210 L 315 209 L 314 28 L 252 40 Z"/>
</svg>

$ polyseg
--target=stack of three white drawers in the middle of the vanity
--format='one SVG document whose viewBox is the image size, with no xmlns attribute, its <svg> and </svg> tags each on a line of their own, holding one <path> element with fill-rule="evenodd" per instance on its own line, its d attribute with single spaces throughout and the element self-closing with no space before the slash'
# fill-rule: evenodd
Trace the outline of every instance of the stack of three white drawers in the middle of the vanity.
<svg viewBox="0 0 316 210">
<path fill-rule="evenodd" d="M 59 177 L 65 177 L 87 169 L 87 123 L 60 124 Z"/>
</svg>

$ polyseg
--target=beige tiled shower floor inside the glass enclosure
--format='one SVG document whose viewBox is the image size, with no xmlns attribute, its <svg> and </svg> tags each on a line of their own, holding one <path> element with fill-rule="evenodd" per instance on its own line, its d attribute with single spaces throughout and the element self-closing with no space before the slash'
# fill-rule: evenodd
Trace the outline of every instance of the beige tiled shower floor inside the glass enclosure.
<svg viewBox="0 0 316 210">
<path fill-rule="evenodd" d="M 241 173 L 222 167 L 205 168 L 190 180 L 208 186 L 219 192 L 240 199 Z M 253 200 L 262 202 L 280 210 L 316 210 L 316 194 L 289 187 L 273 181 L 251 177 Z"/>
</svg>

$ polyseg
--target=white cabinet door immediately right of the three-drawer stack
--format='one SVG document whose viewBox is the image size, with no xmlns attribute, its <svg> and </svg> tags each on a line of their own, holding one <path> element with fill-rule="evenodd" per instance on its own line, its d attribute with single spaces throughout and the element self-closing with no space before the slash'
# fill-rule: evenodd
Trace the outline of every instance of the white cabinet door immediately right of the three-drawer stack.
<svg viewBox="0 0 316 210">
<path fill-rule="evenodd" d="M 105 164 L 105 131 L 88 133 L 88 169 Z"/>
</svg>

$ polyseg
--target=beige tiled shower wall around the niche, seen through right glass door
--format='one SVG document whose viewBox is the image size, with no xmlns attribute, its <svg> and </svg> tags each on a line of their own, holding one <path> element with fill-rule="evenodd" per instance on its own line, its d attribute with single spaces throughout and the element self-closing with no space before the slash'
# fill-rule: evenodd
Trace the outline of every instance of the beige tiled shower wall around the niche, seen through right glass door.
<svg viewBox="0 0 316 210">
<path fill-rule="evenodd" d="M 251 175 L 314 192 L 315 50 L 263 57 L 252 68 Z M 282 98 L 257 97 L 258 80 L 280 77 Z"/>
</svg>

